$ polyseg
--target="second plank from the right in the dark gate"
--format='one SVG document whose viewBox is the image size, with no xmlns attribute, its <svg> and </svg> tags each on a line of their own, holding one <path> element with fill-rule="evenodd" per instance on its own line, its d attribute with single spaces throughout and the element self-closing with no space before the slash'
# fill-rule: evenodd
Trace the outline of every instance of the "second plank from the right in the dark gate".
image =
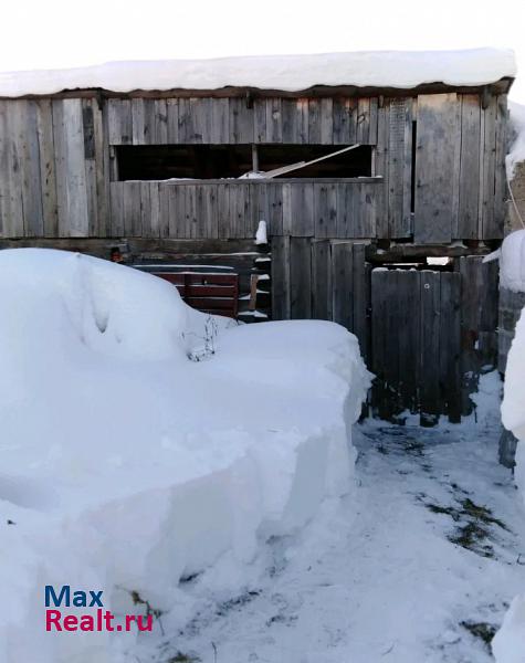
<svg viewBox="0 0 525 663">
<path fill-rule="evenodd" d="M 440 391 L 440 303 L 439 272 L 423 270 L 421 280 L 421 425 L 434 425 L 439 420 Z"/>
</svg>

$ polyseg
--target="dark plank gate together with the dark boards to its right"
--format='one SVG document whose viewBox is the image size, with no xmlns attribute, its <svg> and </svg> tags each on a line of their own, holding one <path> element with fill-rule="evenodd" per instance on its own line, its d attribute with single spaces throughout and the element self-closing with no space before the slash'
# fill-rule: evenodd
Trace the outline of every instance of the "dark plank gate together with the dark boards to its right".
<svg viewBox="0 0 525 663">
<path fill-rule="evenodd" d="M 480 373 L 495 368 L 497 271 L 479 256 L 450 272 L 372 270 L 370 326 L 374 413 L 459 422 Z"/>
</svg>

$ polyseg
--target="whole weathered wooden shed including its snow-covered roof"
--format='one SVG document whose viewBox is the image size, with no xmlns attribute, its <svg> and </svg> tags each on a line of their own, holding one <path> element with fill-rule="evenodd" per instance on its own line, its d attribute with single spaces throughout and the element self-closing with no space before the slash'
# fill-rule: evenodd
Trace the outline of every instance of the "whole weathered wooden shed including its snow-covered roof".
<svg viewBox="0 0 525 663">
<path fill-rule="evenodd" d="M 358 336 L 376 412 L 458 420 L 496 358 L 513 76 L 491 50 L 0 75 L 0 246 L 239 274 L 241 319 Z"/>
</svg>

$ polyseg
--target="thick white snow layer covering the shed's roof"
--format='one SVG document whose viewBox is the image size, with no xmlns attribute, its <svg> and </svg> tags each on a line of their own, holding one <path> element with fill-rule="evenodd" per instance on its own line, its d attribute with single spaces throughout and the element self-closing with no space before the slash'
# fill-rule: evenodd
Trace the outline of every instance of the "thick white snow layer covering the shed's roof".
<svg viewBox="0 0 525 663">
<path fill-rule="evenodd" d="M 219 90 L 225 86 L 298 92 L 316 85 L 411 88 L 426 83 L 475 86 L 516 75 L 514 52 L 375 51 L 262 55 L 217 60 L 108 62 L 70 70 L 0 73 L 0 96 L 64 90 Z"/>
</svg>

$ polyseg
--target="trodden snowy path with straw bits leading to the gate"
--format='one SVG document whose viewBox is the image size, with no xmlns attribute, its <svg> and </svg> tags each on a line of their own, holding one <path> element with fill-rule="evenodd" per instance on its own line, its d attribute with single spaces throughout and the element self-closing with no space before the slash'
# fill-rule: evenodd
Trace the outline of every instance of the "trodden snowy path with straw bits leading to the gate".
<svg viewBox="0 0 525 663">
<path fill-rule="evenodd" d="M 525 588 L 525 514 L 497 465 L 495 417 L 357 428 L 356 493 L 325 503 L 300 537 L 274 539 L 234 593 L 217 577 L 188 579 L 193 617 L 176 635 L 162 624 L 166 636 L 129 661 L 493 660 L 487 642 Z"/>
</svg>

